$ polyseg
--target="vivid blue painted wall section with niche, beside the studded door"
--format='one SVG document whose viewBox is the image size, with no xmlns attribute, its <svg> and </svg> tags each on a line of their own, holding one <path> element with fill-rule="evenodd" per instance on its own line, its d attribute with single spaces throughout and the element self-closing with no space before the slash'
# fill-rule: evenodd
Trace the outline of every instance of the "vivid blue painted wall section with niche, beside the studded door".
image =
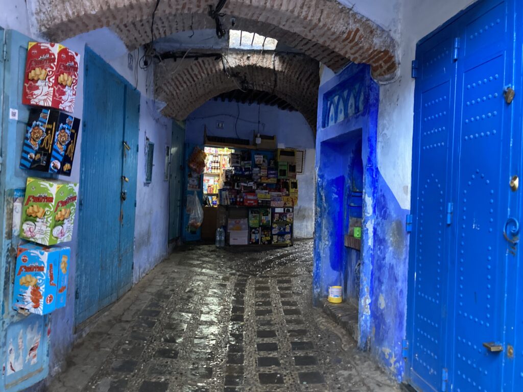
<svg viewBox="0 0 523 392">
<path fill-rule="evenodd" d="M 343 283 L 347 300 L 358 305 L 359 347 L 369 349 L 401 381 L 408 211 L 400 207 L 378 169 L 378 106 L 379 87 L 366 65 L 351 64 L 320 86 L 313 298 L 317 304 L 327 296 L 329 285 Z M 361 207 L 349 206 L 351 183 L 363 190 Z M 361 253 L 344 246 L 350 217 L 358 215 Z"/>
</svg>

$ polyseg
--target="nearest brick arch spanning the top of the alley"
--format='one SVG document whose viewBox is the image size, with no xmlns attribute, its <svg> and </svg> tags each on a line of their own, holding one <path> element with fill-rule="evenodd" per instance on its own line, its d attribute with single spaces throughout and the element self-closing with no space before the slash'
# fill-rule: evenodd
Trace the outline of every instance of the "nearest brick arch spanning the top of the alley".
<svg viewBox="0 0 523 392">
<path fill-rule="evenodd" d="M 34 24 L 55 41 L 109 26 L 130 46 L 149 42 L 155 0 L 33 0 Z M 189 30 L 195 20 L 209 19 L 216 0 L 162 0 L 156 11 L 155 38 Z M 222 11 L 238 24 L 276 38 L 337 69 L 367 63 L 378 80 L 397 70 L 395 42 L 389 32 L 335 0 L 229 0 Z M 196 18 L 196 19 L 195 19 Z M 331 57 L 331 59 L 329 59 Z"/>
</svg>

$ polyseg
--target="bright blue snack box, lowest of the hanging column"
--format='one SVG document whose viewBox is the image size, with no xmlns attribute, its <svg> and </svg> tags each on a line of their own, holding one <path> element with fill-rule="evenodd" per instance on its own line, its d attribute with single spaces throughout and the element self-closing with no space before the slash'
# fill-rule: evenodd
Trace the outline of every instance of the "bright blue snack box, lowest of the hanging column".
<svg viewBox="0 0 523 392">
<path fill-rule="evenodd" d="M 22 244 L 18 247 L 13 307 L 45 315 L 65 306 L 71 249 Z"/>
</svg>

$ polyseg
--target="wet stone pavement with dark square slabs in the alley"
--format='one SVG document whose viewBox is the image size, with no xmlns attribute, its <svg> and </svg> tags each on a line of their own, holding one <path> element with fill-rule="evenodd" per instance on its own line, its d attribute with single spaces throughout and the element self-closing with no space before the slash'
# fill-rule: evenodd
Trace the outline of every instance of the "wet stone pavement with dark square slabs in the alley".
<svg viewBox="0 0 523 392">
<path fill-rule="evenodd" d="M 397 391 L 311 306 L 312 241 L 177 251 L 90 327 L 50 392 Z"/>
</svg>

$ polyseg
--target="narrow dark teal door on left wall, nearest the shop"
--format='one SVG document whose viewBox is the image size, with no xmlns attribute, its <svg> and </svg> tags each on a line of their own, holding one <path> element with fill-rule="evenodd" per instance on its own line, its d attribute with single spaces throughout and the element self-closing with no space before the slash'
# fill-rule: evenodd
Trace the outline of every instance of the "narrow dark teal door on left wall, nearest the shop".
<svg viewBox="0 0 523 392">
<path fill-rule="evenodd" d="M 173 121 L 169 162 L 169 241 L 180 236 L 180 213 L 184 185 L 185 126 Z"/>
</svg>

